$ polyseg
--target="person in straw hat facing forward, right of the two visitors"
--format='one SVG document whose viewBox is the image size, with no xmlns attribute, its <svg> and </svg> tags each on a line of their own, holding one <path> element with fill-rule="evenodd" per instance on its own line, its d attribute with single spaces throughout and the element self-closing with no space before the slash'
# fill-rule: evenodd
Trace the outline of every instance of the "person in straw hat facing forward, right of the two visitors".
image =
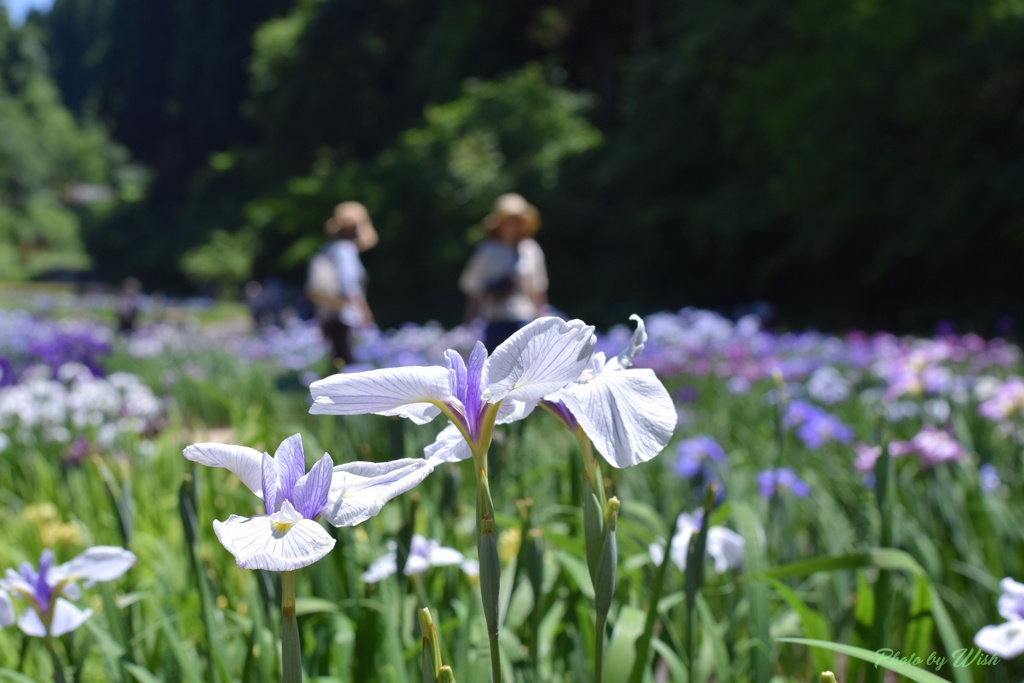
<svg viewBox="0 0 1024 683">
<path fill-rule="evenodd" d="M 541 216 L 522 196 L 499 197 L 483 224 L 487 237 L 470 257 L 459 289 L 467 297 L 466 319 L 484 319 L 483 343 L 494 351 L 547 307 L 548 271 L 534 240 Z"/>
</svg>

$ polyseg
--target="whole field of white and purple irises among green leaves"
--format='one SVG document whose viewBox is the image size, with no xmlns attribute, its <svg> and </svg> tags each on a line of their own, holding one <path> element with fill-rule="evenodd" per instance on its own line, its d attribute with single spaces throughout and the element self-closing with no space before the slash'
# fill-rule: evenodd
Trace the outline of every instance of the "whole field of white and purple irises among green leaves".
<svg viewBox="0 0 1024 683">
<path fill-rule="evenodd" d="M 70 312 L 0 310 L 0 681 L 1024 677 L 1013 343 Z"/>
</svg>

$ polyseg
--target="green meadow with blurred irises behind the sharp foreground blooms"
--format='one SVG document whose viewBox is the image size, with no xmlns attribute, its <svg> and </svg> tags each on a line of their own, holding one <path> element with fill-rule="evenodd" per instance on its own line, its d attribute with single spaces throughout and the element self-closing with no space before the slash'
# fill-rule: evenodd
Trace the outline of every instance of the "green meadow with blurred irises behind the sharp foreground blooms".
<svg viewBox="0 0 1024 683">
<path fill-rule="evenodd" d="M 0 325 L 0 564 L 35 562 L 43 548 L 58 561 L 100 544 L 136 553 L 123 579 L 88 593 L 95 615 L 60 639 L 75 680 L 275 680 L 275 574 L 236 567 L 211 527 L 255 511 L 254 499 L 229 473 L 193 467 L 182 447 L 272 450 L 300 432 L 307 460 L 326 450 L 336 462 L 383 461 L 420 457 L 440 425 L 309 416 L 304 383 L 325 359 L 298 322 L 253 334 L 238 318 L 204 324 L 197 313 L 208 312 L 177 307 L 159 312 L 173 322 L 151 310 L 133 336 L 117 338 L 101 300 L 74 319 L 60 297 L 42 301 L 50 314 L 6 311 Z M 1016 345 L 952 331 L 777 334 L 753 316 L 695 309 L 646 322 L 638 365 L 670 388 L 679 424 L 653 461 L 604 466 L 623 503 L 605 680 L 809 681 L 824 669 L 882 680 L 882 669 L 778 638 L 949 657 L 1001 622 L 998 581 L 1024 573 L 1013 495 L 1021 399 L 1006 393 L 1021 371 Z M 621 348 L 629 334 L 610 329 L 599 348 Z M 440 350 L 466 350 L 473 338 L 471 328 L 406 326 L 368 336 L 357 366 L 437 362 Z M 935 447 L 914 440 L 932 429 L 946 435 Z M 588 681 L 594 595 L 578 446 L 542 412 L 500 434 L 490 458 L 507 680 Z M 865 449 L 881 443 L 899 454 L 891 469 L 858 470 Z M 781 468 L 796 477 L 773 485 L 761 474 Z M 687 601 L 684 573 L 672 562 L 659 572 L 650 546 L 670 538 L 680 512 L 700 507 L 712 480 L 712 523 L 743 537 L 744 562 L 720 574 L 709 560 Z M 458 679 L 486 680 L 474 575 L 453 565 L 362 579 L 389 541 L 408 548 L 414 532 L 475 557 L 472 490 L 468 466 L 443 465 L 379 517 L 329 527 L 335 550 L 298 572 L 309 680 L 420 680 L 420 606 L 431 608 Z M 33 641 L 0 631 L 0 677 L 51 676 Z M 637 652 L 644 666 L 632 679 Z M 1016 681 L 1021 670 L 946 664 L 938 674 Z"/>
</svg>

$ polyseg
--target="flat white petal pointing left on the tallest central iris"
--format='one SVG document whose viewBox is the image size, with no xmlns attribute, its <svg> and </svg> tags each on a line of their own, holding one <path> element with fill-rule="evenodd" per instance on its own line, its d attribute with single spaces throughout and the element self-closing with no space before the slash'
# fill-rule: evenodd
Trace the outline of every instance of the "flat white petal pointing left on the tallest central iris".
<svg viewBox="0 0 1024 683">
<path fill-rule="evenodd" d="M 417 424 L 433 420 L 433 402 L 452 398 L 446 368 L 384 368 L 332 375 L 309 385 L 313 415 L 397 415 Z"/>
</svg>

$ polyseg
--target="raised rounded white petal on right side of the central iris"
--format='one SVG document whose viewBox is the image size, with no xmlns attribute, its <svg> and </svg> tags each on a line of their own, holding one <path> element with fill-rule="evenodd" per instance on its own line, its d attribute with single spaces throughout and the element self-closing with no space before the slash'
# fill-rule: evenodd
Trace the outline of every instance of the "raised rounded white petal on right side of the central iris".
<svg viewBox="0 0 1024 683">
<path fill-rule="evenodd" d="M 540 317 L 495 349 L 483 398 L 540 400 L 580 377 L 595 343 L 594 328 L 582 321 Z"/>
</svg>

